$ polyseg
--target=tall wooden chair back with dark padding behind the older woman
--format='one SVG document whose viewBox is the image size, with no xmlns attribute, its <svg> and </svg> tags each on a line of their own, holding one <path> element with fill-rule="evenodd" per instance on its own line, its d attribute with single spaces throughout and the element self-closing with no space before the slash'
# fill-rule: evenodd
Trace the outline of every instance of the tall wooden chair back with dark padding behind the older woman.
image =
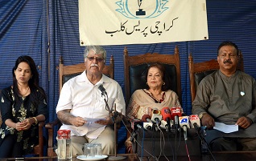
<svg viewBox="0 0 256 161">
<path fill-rule="evenodd" d="M 171 90 L 176 92 L 181 103 L 180 54 L 178 46 L 175 46 L 174 54 L 146 53 L 134 56 L 129 56 L 125 47 L 123 58 L 126 105 L 128 105 L 130 96 L 134 91 L 147 87 L 146 70 L 148 66 L 155 62 L 162 63 L 167 73 L 171 75 Z"/>
</svg>

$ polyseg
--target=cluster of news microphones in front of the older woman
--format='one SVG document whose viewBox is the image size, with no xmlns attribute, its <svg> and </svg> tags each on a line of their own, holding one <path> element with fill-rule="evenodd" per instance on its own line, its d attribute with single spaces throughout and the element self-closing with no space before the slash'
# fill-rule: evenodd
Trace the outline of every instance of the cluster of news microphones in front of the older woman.
<svg viewBox="0 0 256 161">
<path fill-rule="evenodd" d="M 156 125 L 156 126 L 155 126 Z M 154 129 L 155 127 L 155 129 Z M 184 115 L 180 107 L 163 107 L 160 110 L 152 109 L 151 115 L 143 115 L 142 119 L 131 120 L 131 128 L 134 130 L 144 129 L 157 131 L 158 127 L 167 132 L 184 131 L 184 139 L 188 139 L 188 128 L 200 129 L 200 119 L 198 115 Z"/>
</svg>

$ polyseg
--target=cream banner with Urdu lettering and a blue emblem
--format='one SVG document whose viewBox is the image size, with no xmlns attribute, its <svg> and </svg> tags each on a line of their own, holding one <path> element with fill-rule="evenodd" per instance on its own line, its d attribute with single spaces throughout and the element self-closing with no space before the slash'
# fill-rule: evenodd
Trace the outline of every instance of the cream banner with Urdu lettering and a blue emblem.
<svg viewBox="0 0 256 161">
<path fill-rule="evenodd" d="M 79 0 L 81 46 L 209 38 L 205 0 Z"/>
</svg>

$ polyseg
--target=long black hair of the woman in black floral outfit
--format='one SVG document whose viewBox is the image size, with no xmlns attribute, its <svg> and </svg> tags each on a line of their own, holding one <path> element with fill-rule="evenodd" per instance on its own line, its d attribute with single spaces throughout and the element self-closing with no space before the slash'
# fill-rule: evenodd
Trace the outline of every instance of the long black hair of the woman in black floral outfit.
<svg viewBox="0 0 256 161">
<path fill-rule="evenodd" d="M 34 62 L 33 58 L 31 58 L 30 56 L 27 56 L 27 55 L 23 55 L 23 56 L 20 56 L 19 58 L 17 58 L 17 60 L 15 62 L 15 66 L 12 69 L 13 91 L 14 91 L 15 101 L 19 101 L 19 99 L 18 99 L 19 98 L 19 88 L 18 88 L 18 81 L 15 77 L 14 70 L 17 70 L 20 62 L 26 62 L 31 68 L 32 77 L 28 81 L 28 86 L 31 89 L 31 94 L 30 94 L 31 103 L 33 103 L 34 106 L 36 107 L 39 103 L 39 98 L 36 97 L 36 92 L 40 92 L 43 95 L 44 99 L 46 99 L 46 95 L 45 95 L 43 89 L 41 87 L 39 87 L 39 73 L 36 69 L 35 62 Z"/>
</svg>

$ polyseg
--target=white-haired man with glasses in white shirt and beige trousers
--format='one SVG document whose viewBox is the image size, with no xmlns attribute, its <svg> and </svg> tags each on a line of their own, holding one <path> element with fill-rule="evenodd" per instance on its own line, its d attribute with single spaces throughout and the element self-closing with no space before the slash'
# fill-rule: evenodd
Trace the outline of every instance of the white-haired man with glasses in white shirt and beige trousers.
<svg viewBox="0 0 256 161">
<path fill-rule="evenodd" d="M 116 106 L 118 112 L 126 115 L 122 88 L 102 74 L 106 52 L 101 46 L 87 46 L 84 58 L 86 70 L 64 83 L 61 90 L 56 107 L 58 118 L 63 123 L 60 129 L 71 130 L 72 156 L 83 155 L 85 143 L 101 143 L 104 155 L 114 154 L 112 125 L 121 121 L 122 115 L 113 116 L 111 109 Z M 101 95 L 104 90 L 102 93 L 107 94 L 107 98 Z"/>
</svg>

